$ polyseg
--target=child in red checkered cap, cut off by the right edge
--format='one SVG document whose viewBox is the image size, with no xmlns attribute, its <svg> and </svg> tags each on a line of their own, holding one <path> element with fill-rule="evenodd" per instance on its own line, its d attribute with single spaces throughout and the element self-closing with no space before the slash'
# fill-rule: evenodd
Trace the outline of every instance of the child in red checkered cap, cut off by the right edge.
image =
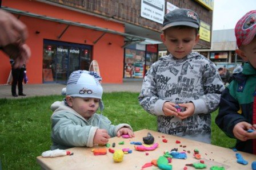
<svg viewBox="0 0 256 170">
<path fill-rule="evenodd" d="M 237 139 L 238 151 L 256 154 L 256 10 L 238 20 L 235 37 L 236 52 L 247 62 L 223 91 L 215 123 Z"/>
</svg>

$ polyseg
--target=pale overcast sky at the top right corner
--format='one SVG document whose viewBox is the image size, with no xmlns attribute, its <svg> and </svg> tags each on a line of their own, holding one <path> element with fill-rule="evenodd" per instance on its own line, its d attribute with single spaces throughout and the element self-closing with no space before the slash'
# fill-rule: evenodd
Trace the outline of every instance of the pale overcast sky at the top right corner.
<svg viewBox="0 0 256 170">
<path fill-rule="evenodd" d="M 251 10 L 256 10 L 256 0 L 214 0 L 213 30 L 234 29 Z"/>
</svg>

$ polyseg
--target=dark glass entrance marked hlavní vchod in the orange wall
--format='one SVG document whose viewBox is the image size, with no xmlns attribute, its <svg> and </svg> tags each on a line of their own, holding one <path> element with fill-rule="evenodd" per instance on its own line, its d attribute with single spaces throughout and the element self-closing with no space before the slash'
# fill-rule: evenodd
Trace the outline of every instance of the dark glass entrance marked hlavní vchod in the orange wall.
<svg viewBox="0 0 256 170">
<path fill-rule="evenodd" d="M 43 82 L 66 83 L 78 69 L 89 70 L 91 46 L 43 40 Z"/>
</svg>

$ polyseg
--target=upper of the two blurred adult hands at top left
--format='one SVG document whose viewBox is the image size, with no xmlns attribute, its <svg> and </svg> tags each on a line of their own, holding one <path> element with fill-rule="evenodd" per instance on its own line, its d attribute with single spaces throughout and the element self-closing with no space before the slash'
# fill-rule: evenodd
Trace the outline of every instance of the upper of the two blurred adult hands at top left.
<svg viewBox="0 0 256 170">
<path fill-rule="evenodd" d="M 15 16 L 0 9 L 0 47 L 23 44 L 27 39 L 27 27 Z"/>
</svg>

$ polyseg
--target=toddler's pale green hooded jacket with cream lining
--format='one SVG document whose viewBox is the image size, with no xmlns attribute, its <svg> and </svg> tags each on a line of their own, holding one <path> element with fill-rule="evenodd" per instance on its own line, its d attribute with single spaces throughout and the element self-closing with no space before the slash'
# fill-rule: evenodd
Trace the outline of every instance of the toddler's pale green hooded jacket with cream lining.
<svg viewBox="0 0 256 170">
<path fill-rule="evenodd" d="M 93 138 L 98 128 L 106 129 L 111 137 L 117 136 L 117 131 L 122 127 L 131 128 L 126 123 L 117 126 L 111 125 L 110 120 L 100 114 L 86 120 L 65 102 L 57 101 L 51 105 L 54 111 L 51 116 L 51 150 L 57 148 L 65 150 L 71 147 L 93 147 Z M 100 120 L 100 125 L 98 123 Z"/>
</svg>

